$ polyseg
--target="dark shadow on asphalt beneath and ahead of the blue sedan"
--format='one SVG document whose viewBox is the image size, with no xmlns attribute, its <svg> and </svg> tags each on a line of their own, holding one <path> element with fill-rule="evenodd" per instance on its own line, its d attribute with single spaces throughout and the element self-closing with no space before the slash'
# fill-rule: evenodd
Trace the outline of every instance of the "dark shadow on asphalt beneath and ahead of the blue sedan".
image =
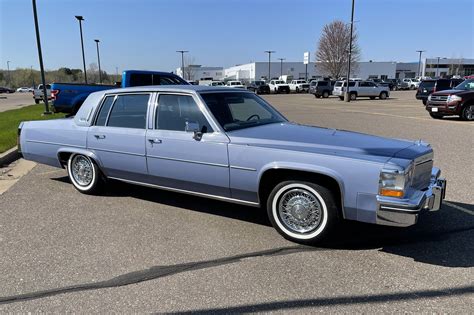
<svg viewBox="0 0 474 315">
<path fill-rule="evenodd" d="M 69 182 L 67 177 L 53 178 Z M 132 197 L 172 207 L 271 226 L 260 208 L 225 203 L 201 197 L 110 181 L 105 197 Z M 420 216 L 418 224 L 389 227 L 344 221 L 332 237 L 317 248 L 338 250 L 378 249 L 414 261 L 445 266 L 474 267 L 474 206 L 448 201 L 442 209 Z M 316 248 L 315 248 L 316 249 Z"/>
</svg>

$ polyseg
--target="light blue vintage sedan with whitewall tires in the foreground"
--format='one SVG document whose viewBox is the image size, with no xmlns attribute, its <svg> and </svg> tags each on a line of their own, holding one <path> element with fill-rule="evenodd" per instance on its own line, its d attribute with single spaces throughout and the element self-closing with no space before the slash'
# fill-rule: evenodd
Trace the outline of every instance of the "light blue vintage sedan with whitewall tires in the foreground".
<svg viewBox="0 0 474 315">
<path fill-rule="evenodd" d="M 445 192 L 431 146 L 292 123 L 241 89 L 100 91 L 74 118 L 23 122 L 18 134 L 25 159 L 66 168 L 81 193 L 119 180 L 266 207 L 302 243 L 339 218 L 413 225 Z"/>
</svg>

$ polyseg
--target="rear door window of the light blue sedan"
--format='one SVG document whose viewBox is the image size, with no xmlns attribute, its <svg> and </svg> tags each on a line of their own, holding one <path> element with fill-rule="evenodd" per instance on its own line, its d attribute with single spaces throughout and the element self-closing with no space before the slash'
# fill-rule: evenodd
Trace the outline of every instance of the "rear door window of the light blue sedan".
<svg viewBox="0 0 474 315">
<path fill-rule="evenodd" d="M 117 96 L 107 126 L 145 129 L 149 98 L 149 94 Z"/>
</svg>

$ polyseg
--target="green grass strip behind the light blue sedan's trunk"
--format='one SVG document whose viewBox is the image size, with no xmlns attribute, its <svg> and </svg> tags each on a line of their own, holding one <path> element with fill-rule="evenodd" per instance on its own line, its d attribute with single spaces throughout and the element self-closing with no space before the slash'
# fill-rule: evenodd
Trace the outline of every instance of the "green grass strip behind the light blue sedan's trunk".
<svg viewBox="0 0 474 315">
<path fill-rule="evenodd" d="M 44 105 L 31 105 L 0 112 L 0 153 L 16 145 L 18 125 L 27 120 L 63 118 L 64 114 L 44 115 Z"/>
</svg>

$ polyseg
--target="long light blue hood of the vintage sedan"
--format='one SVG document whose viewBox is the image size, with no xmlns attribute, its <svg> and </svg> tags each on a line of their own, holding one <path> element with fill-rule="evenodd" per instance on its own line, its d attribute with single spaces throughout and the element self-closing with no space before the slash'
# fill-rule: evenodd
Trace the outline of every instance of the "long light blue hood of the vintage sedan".
<svg viewBox="0 0 474 315">
<path fill-rule="evenodd" d="M 232 144 L 336 155 L 386 163 L 391 158 L 414 159 L 431 148 L 419 141 L 383 138 L 352 131 L 291 122 L 228 132 Z"/>
</svg>

